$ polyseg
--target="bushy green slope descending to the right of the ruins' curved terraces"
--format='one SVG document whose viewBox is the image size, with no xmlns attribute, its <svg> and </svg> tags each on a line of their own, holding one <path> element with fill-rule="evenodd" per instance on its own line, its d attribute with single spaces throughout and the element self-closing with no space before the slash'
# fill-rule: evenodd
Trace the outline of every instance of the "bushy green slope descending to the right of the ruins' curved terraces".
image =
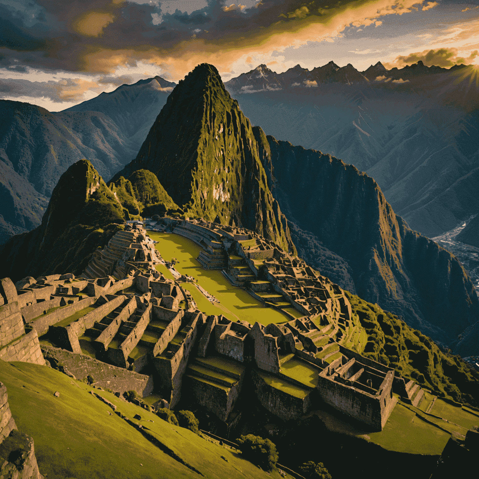
<svg viewBox="0 0 479 479">
<path fill-rule="evenodd" d="M 459 356 L 442 352 L 431 338 L 396 315 L 345 291 L 368 341 L 363 355 L 394 368 L 435 394 L 473 406 L 479 403 L 479 374 Z"/>
</svg>

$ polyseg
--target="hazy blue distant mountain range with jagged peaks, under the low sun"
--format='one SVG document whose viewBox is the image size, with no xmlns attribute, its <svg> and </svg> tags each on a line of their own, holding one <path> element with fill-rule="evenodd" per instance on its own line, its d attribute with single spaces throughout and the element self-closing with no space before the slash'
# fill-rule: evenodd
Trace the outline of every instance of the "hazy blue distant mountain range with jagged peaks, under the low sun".
<svg viewBox="0 0 479 479">
<path fill-rule="evenodd" d="M 397 214 L 422 234 L 437 236 L 476 214 L 478 70 L 422 62 L 353 70 L 330 62 L 276 74 L 260 65 L 225 86 L 266 133 L 372 176 Z"/>
</svg>

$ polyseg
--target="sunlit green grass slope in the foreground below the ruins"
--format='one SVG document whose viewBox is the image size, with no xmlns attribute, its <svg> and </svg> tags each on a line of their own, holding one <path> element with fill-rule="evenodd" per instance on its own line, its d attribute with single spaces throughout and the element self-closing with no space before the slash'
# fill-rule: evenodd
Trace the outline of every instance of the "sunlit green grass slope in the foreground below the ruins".
<svg viewBox="0 0 479 479">
<path fill-rule="evenodd" d="M 38 467 L 48 479 L 200 477 L 89 394 L 92 389 L 86 384 L 46 366 L 19 362 L 0 361 L 0 377 L 15 422 L 34 438 Z M 207 478 L 280 479 L 277 471 L 270 476 L 235 450 L 168 424 L 111 393 L 93 390 L 132 421 L 139 414 L 136 422 Z M 55 391 L 59 398 L 53 396 Z"/>
</svg>

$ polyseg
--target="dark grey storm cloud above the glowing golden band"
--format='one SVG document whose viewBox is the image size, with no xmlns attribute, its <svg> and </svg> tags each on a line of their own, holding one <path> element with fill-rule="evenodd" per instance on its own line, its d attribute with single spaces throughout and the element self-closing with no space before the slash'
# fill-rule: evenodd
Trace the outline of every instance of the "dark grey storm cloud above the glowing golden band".
<svg viewBox="0 0 479 479">
<path fill-rule="evenodd" d="M 312 11 L 318 15 L 324 2 L 264 0 L 241 9 L 230 8 L 229 0 L 209 0 L 205 8 L 190 14 L 179 10 L 170 14 L 155 4 L 129 1 L 23 0 L 0 4 L 0 49 L 30 52 L 30 66 L 80 71 L 87 68 L 86 55 L 103 49 L 154 49 L 165 54 L 192 37 L 209 44 L 225 37 L 245 42 L 260 28 L 280 21 L 281 28 L 288 28 Z M 161 18 L 159 24 L 153 22 L 155 15 Z"/>
</svg>

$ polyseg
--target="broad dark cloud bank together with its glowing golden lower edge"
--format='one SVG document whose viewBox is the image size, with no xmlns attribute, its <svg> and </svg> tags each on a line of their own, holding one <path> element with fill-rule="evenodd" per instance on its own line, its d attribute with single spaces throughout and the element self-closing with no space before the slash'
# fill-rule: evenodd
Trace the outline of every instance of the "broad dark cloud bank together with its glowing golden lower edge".
<svg viewBox="0 0 479 479">
<path fill-rule="evenodd" d="M 96 88 L 113 88 L 126 77 L 136 81 L 141 75 L 161 74 L 178 80 L 202 62 L 237 74 L 274 60 L 280 62 L 278 68 L 285 68 L 284 57 L 277 56 L 286 48 L 323 41 L 338 45 L 335 40 L 346 28 L 354 26 L 359 32 L 377 27 L 385 16 L 411 13 L 419 4 L 417 0 L 344 0 L 319 8 L 311 0 L 233 1 L 15 0 L 8 7 L 0 4 L 0 55 L 10 62 L 0 62 L 0 67 L 6 67 L 1 71 L 20 74 L 23 68 L 28 74 L 33 68 L 75 73 L 77 78 L 90 75 L 94 94 Z M 423 10 L 433 4 L 437 2 L 427 2 Z M 461 35 L 467 41 L 466 34 L 457 30 L 450 32 L 450 40 Z M 366 52 L 365 47 L 360 51 Z M 13 65 L 12 58 L 19 63 Z M 80 98 L 86 85 L 63 87 L 68 98 Z"/>
</svg>

